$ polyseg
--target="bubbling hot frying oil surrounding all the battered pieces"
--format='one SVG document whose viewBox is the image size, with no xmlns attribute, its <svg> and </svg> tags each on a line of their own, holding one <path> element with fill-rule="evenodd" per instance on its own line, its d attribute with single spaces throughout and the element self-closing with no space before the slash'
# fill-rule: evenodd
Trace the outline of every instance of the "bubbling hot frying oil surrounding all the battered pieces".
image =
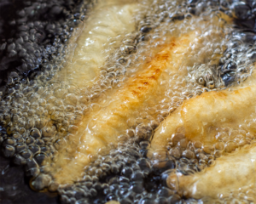
<svg viewBox="0 0 256 204">
<path fill-rule="evenodd" d="M 254 135 L 247 127 L 254 125 L 255 114 L 240 127 L 219 127 L 216 144 L 190 141 L 181 131 L 162 149 L 150 148 L 154 129 L 184 100 L 232 89 L 250 77 L 256 56 L 255 3 L 142 1 L 134 15 L 135 31 L 109 40 L 116 45 L 108 48 L 111 52 L 106 49 L 111 54 L 89 86 L 81 85 L 79 70 L 68 57 L 83 31 L 83 21 L 86 26 L 85 12 L 93 14 L 88 10 L 93 12 L 97 3 L 25 4 L 15 14 L 17 20 L 9 22 L 18 32 L 0 44 L 0 71 L 4 72 L 0 144 L 3 156 L 24 167 L 34 190 L 57 191 L 62 203 L 185 202 L 175 186 L 166 184 L 169 173 L 203 172 L 218 157 L 253 143 Z M 114 104 L 111 94 L 143 72 L 143 65 L 172 37 L 190 32 L 196 32 L 195 42 L 185 51 L 175 50 L 182 52 L 184 62 L 168 62 L 166 66 L 177 65 L 177 71 L 163 71 L 154 96 L 147 96 L 132 111 L 125 128 L 117 130 L 117 143 L 90 155 L 90 165 L 73 184 L 55 182 L 52 169 L 58 168 L 60 155 L 64 152 L 69 161 L 80 152 L 84 129 L 93 129 L 88 121 L 100 120 L 93 115 Z M 251 191 L 243 190 L 238 199 L 247 200 Z M 236 193 L 230 197 L 236 199 Z"/>
</svg>

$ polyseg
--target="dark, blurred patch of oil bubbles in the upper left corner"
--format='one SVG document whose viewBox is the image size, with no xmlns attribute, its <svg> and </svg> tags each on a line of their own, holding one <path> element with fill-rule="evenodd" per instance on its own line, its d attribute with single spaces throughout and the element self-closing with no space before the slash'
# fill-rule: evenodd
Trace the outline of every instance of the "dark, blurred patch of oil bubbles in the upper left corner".
<svg viewBox="0 0 256 204">
<path fill-rule="evenodd" d="M 19 6 L 18 6 L 19 5 Z M 20 77 L 33 77 L 44 71 L 45 65 L 59 64 L 58 55 L 64 54 L 67 40 L 73 30 L 84 20 L 90 8 L 88 3 L 65 3 L 64 1 L 22 1 L 3 4 L 3 13 L 14 13 L 11 19 L 3 14 L 4 29 L 1 30 L 1 89 L 13 82 L 13 72 Z M 36 72 L 35 72 L 36 71 Z"/>
</svg>

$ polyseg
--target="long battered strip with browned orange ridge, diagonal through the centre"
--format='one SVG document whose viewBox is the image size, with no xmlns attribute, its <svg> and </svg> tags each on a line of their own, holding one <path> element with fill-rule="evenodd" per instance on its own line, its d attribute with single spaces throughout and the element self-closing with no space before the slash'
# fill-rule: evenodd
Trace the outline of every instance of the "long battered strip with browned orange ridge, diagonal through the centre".
<svg viewBox="0 0 256 204">
<path fill-rule="evenodd" d="M 90 116 L 80 125 L 79 135 L 72 139 L 76 141 L 76 150 L 73 154 L 67 154 L 66 150 L 60 152 L 53 173 L 58 183 L 72 183 L 79 178 L 83 169 L 90 163 L 90 156 L 108 144 L 116 144 L 117 137 L 122 131 L 129 128 L 127 120 L 134 115 L 148 100 L 154 99 L 154 93 L 158 90 L 163 72 L 179 72 L 186 75 L 186 70 L 180 70 L 189 43 L 195 39 L 195 32 L 172 38 L 165 48 L 154 56 L 152 60 L 143 66 L 135 77 L 125 82 L 123 88 L 113 91 L 109 97 L 109 104 L 98 112 L 91 112 Z M 176 52 L 174 52 L 176 51 Z M 181 52 L 179 52 L 181 51 Z M 172 62 L 169 64 L 168 62 Z M 71 141 L 70 141 L 71 142 Z"/>
</svg>

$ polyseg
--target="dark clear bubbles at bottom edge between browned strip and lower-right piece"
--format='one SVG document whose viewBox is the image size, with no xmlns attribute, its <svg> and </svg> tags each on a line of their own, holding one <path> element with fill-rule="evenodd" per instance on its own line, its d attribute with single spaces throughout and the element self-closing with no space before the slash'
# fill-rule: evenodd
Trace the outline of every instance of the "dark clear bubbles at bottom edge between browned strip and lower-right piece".
<svg viewBox="0 0 256 204">
<path fill-rule="evenodd" d="M 141 154 L 148 149 L 146 141 L 138 145 L 134 140 L 119 143 L 116 150 L 99 156 L 86 167 L 84 177 L 77 184 L 59 188 L 63 203 L 166 203 L 178 201 L 179 195 L 161 184 L 160 172 L 154 162 Z M 166 168 L 175 167 L 175 161 Z M 85 196 L 84 196 L 85 195 Z M 86 197 L 86 198 L 84 198 Z"/>
</svg>

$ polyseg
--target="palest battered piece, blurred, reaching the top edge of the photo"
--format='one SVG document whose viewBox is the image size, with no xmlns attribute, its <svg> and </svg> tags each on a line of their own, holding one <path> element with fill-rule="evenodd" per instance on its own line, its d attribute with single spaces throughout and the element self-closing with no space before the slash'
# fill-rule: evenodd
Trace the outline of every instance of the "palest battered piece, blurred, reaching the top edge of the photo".
<svg viewBox="0 0 256 204">
<path fill-rule="evenodd" d="M 124 35 L 135 30 L 132 17 L 138 5 L 134 1 L 116 0 L 97 3 L 79 38 L 73 39 L 76 48 L 71 63 L 59 75 L 79 87 L 91 86 Z"/>
</svg>

